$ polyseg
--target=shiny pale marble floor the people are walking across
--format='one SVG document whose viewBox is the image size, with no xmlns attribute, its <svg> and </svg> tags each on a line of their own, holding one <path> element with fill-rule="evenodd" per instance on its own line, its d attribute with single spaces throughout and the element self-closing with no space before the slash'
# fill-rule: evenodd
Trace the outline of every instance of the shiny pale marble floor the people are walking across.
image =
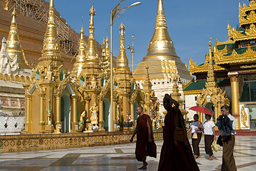
<svg viewBox="0 0 256 171">
<path fill-rule="evenodd" d="M 220 170 L 222 149 L 215 153 L 212 161 L 204 153 L 203 138 L 200 143 L 201 157 L 197 164 L 201 171 Z M 156 141 L 158 156 L 148 157 L 147 170 L 157 170 L 162 141 Z M 0 153 L 0 171 L 107 171 L 137 170 L 142 163 L 135 159 L 135 143 L 115 146 L 82 147 L 76 149 L 57 149 Z M 251 171 L 256 168 L 256 137 L 236 136 L 234 156 L 238 170 Z"/>
</svg>

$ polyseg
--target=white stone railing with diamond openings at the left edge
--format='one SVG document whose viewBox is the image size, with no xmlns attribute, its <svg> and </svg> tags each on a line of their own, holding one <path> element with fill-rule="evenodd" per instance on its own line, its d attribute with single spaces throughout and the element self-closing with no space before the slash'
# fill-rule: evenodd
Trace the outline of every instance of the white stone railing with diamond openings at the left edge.
<svg viewBox="0 0 256 171">
<path fill-rule="evenodd" d="M 0 116 L 0 134 L 20 134 L 24 130 L 24 117 Z"/>
</svg>

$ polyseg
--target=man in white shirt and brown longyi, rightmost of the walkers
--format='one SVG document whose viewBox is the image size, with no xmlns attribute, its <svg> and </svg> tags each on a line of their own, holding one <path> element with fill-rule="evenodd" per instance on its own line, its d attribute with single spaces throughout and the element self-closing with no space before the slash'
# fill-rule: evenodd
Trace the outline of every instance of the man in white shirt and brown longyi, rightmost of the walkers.
<svg viewBox="0 0 256 171">
<path fill-rule="evenodd" d="M 228 135 L 223 141 L 223 154 L 222 154 L 222 171 L 226 170 L 236 170 L 235 159 L 233 157 L 233 148 L 235 146 L 235 127 L 236 127 L 236 119 L 230 114 L 230 108 L 227 105 L 222 106 L 221 112 L 223 115 L 228 116 L 228 118 L 232 121 L 231 135 Z"/>
</svg>

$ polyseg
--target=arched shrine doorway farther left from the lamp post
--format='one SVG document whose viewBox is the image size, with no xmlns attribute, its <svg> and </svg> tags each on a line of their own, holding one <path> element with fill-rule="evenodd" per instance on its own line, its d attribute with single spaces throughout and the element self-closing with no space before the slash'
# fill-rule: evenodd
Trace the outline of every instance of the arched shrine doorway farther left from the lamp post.
<svg viewBox="0 0 256 171">
<path fill-rule="evenodd" d="M 61 98 L 61 114 L 60 121 L 62 122 L 63 133 L 69 133 L 71 130 L 71 102 L 69 96 L 66 94 L 62 95 Z"/>
</svg>

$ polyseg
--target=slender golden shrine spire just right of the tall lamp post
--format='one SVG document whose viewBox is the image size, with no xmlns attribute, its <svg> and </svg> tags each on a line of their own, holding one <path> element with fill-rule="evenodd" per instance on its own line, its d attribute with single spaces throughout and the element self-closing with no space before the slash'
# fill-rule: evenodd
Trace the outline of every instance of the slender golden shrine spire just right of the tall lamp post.
<svg viewBox="0 0 256 171">
<path fill-rule="evenodd" d="M 125 27 L 123 21 L 121 21 L 121 25 L 119 27 L 120 31 L 120 48 L 119 48 L 119 56 L 117 58 L 117 69 L 129 69 L 129 63 L 126 55 L 126 48 L 124 46 L 124 33 Z"/>
</svg>

